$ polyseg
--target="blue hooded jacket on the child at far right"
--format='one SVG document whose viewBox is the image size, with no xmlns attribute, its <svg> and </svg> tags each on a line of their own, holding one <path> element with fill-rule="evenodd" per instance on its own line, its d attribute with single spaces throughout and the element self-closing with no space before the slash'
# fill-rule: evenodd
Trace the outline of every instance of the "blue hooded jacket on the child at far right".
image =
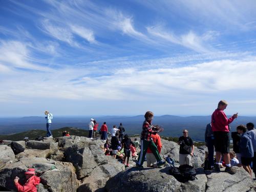
<svg viewBox="0 0 256 192">
<path fill-rule="evenodd" d="M 239 143 L 241 157 L 252 158 L 253 146 L 251 143 L 251 136 L 249 133 L 243 133 Z"/>
</svg>

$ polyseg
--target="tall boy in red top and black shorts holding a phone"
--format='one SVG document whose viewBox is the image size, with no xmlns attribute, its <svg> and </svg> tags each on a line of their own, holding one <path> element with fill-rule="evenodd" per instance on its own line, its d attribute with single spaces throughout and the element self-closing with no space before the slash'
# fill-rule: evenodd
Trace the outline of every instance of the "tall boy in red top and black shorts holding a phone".
<svg viewBox="0 0 256 192">
<path fill-rule="evenodd" d="M 225 172 L 232 175 L 236 172 L 230 165 L 228 124 L 238 117 L 238 113 L 228 119 L 224 113 L 226 107 L 227 101 L 221 100 L 218 103 L 218 108 L 211 115 L 211 127 L 214 132 L 214 146 L 216 151 L 216 164 L 214 168 L 216 172 L 220 172 L 221 154 L 223 154 L 226 163 Z"/>
</svg>

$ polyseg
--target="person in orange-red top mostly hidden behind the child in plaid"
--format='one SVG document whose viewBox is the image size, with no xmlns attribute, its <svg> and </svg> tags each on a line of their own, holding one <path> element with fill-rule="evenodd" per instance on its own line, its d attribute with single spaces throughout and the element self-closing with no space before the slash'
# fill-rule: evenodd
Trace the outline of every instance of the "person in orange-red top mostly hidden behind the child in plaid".
<svg viewBox="0 0 256 192">
<path fill-rule="evenodd" d="M 156 144 L 157 146 L 157 150 L 159 152 L 159 154 L 161 153 L 161 148 L 162 148 L 162 143 L 161 143 L 161 138 L 160 136 L 156 133 L 156 134 L 151 134 L 151 138 L 153 140 L 153 142 Z M 152 153 L 151 149 L 148 147 L 147 151 L 146 151 L 146 166 L 147 167 L 157 167 L 157 160 L 154 156 L 154 154 Z"/>
</svg>

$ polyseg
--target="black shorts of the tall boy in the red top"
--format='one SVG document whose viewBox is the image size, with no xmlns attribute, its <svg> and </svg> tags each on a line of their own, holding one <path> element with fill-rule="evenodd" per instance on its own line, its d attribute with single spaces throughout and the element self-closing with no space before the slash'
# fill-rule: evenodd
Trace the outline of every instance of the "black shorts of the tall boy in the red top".
<svg viewBox="0 0 256 192">
<path fill-rule="evenodd" d="M 221 152 L 221 154 L 229 153 L 229 133 L 214 132 L 214 146 L 216 152 Z"/>
</svg>

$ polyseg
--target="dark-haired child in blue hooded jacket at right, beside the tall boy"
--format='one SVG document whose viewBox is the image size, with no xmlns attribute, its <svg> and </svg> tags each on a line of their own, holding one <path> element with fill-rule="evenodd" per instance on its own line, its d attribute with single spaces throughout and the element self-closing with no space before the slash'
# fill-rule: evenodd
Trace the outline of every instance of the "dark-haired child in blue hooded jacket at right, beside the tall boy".
<svg viewBox="0 0 256 192">
<path fill-rule="evenodd" d="M 239 125 L 237 127 L 237 130 L 239 134 L 242 134 L 241 140 L 238 143 L 240 147 L 241 162 L 242 162 L 243 168 L 252 177 L 252 170 L 250 167 L 250 164 L 253 158 L 253 146 L 251 143 L 251 135 L 249 133 L 246 133 L 246 126 L 244 125 Z"/>
</svg>

